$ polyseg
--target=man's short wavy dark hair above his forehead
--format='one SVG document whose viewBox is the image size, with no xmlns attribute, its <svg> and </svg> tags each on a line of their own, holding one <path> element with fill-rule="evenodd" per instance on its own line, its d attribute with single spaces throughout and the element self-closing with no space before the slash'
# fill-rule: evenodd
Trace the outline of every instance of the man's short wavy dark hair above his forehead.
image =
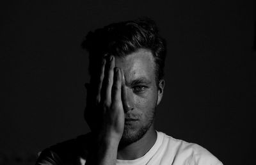
<svg viewBox="0 0 256 165">
<path fill-rule="evenodd" d="M 82 43 L 89 53 L 89 74 L 99 73 L 104 54 L 124 57 L 127 54 L 147 49 L 152 52 L 156 64 L 156 80 L 163 79 L 166 58 L 166 41 L 159 36 L 154 20 L 149 18 L 109 24 L 90 31 Z M 93 73 L 93 74 L 92 74 Z"/>
</svg>

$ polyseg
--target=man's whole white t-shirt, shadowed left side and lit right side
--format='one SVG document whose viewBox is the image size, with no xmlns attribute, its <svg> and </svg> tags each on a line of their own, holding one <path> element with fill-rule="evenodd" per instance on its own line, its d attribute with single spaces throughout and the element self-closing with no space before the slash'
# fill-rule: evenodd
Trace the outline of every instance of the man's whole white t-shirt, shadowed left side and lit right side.
<svg viewBox="0 0 256 165">
<path fill-rule="evenodd" d="M 157 132 L 157 131 L 156 131 Z M 40 165 L 84 164 L 84 148 L 90 144 L 90 134 L 70 139 L 46 148 L 36 161 Z M 93 147 L 93 146 L 92 146 Z M 82 158 L 84 157 L 84 159 Z M 156 143 L 143 157 L 118 160 L 116 165 L 222 165 L 209 151 L 195 143 L 188 143 L 157 132 Z"/>
</svg>

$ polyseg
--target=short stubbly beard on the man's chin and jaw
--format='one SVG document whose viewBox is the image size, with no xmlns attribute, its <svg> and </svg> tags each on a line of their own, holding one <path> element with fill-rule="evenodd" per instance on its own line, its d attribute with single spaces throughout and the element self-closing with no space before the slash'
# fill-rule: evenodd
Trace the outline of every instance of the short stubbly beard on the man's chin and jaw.
<svg viewBox="0 0 256 165">
<path fill-rule="evenodd" d="M 156 109 L 156 108 L 155 108 Z M 132 130 L 132 128 L 129 125 L 125 125 L 124 127 L 124 133 L 122 135 L 122 138 L 120 139 L 120 146 L 127 146 L 130 145 L 131 143 L 134 143 L 141 138 L 147 133 L 148 129 L 152 126 L 152 123 L 154 122 L 155 118 L 155 113 L 156 111 L 150 113 L 147 117 L 147 123 L 143 124 L 142 127 L 136 130 Z"/>
</svg>

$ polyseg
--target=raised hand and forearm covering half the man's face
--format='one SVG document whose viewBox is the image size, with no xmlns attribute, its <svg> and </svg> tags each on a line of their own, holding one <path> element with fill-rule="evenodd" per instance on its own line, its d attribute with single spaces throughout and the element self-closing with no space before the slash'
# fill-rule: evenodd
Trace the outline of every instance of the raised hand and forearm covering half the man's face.
<svg viewBox="0 0 256 165">
<path fill-rule="evenodd" d="M 97 81 L 96 95 L 87 102 L 86 109 L 97 111 L 100 116 L 95 121 L 87 121 L 92 132 L 95 134 L 95 147 L 89 154 L 86 164 L 116 164 L 118 145 L 124 132 L 124 109 L 121 98 L 122 72 L 115 67 L 115 57 L 106 56 L 103 59 L 100 69 L 99 80 Z M 91 105 L 90 105 L 91 104 Z M 93 105 L 92 105 L 93 104 Z"/>
</svg>

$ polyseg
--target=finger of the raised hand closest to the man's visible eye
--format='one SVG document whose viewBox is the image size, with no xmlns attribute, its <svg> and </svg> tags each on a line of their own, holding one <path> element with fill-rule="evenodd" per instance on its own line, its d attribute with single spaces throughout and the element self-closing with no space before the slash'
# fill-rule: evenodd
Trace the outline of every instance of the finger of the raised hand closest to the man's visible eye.
<svg viewBox="0 0 256 165">
<path fill-rule="evenodd" d="M 121 98 L 121 87 L 122 87 L 122 75 L 120 69 L 115 67 L 114 69 L 114 82 L 112 86 L 112 105 L 122 104 Z"/>
</svg>

